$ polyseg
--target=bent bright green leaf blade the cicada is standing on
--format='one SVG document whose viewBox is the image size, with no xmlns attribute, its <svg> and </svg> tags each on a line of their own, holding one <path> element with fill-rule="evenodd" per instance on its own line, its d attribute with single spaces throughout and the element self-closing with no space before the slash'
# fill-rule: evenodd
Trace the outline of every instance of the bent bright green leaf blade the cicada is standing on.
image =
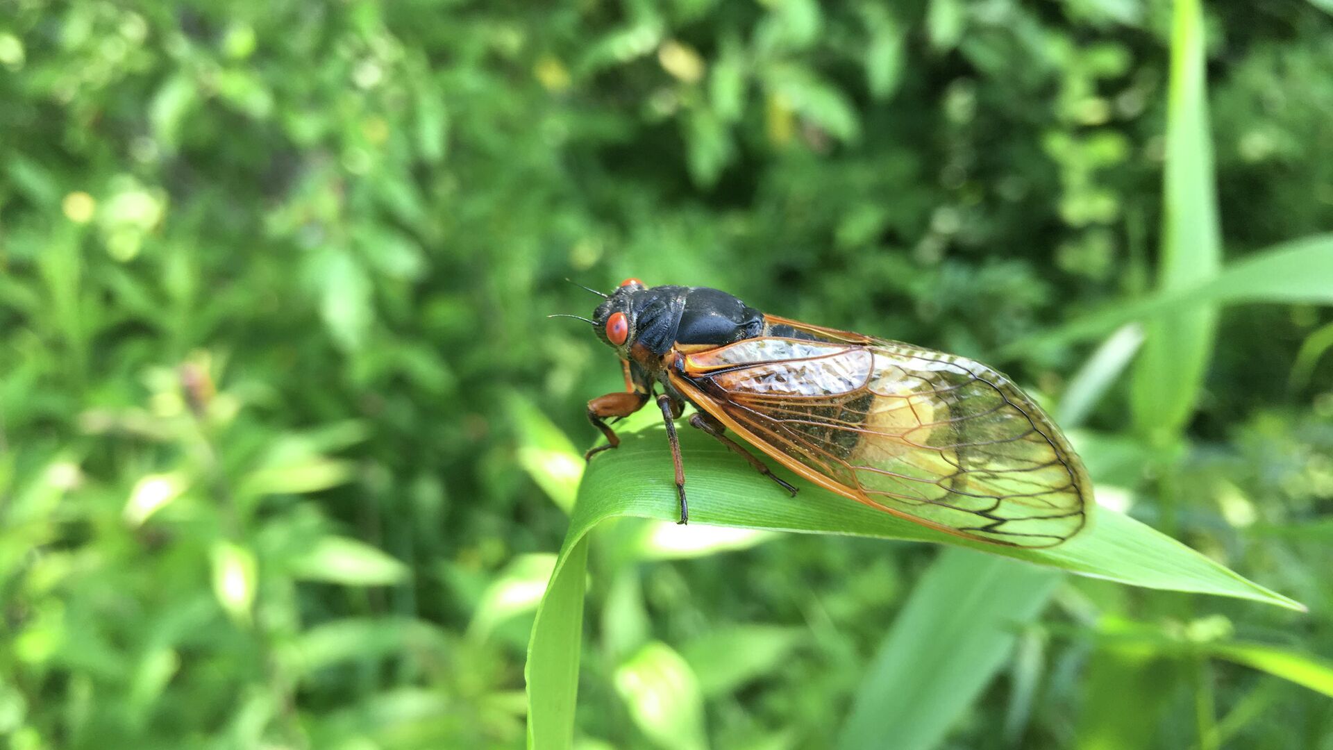
<svg viewBox="0 0 1333 750">
<path fill-rule="evenodd" d="M 678 512 L 665 431 L 640 412 L 620 430 L 621 446 L 593 460 L 579 488 L 565 543 L 528 646 L 528 739 L 531 747 L 569 747 L 573 733 L 587 535 L 617 516 L 674 520 Z M 653 424 L 652 427 L 648 427 Z M 694 430 L 680 434 L 690 499 L 690 527 L 700 524 L 850 534 L 970 547 L 1081 575 L 1133 586 L 1253 599 L 1304 607 L 1269 591 L 1132 518 L 1093 508 L 1088 528 L 1049 550 L 973 542 L 872 510 L 780 470 L 800 487 L 789 496 L 753 472 L 724 446 Z"/>
</svg>

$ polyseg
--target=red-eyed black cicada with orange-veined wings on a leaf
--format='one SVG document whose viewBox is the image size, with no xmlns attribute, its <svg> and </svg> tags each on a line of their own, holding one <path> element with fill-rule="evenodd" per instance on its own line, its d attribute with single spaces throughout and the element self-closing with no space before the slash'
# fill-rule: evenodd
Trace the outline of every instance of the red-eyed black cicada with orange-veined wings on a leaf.
<svg viewBox="0 0 1333 750">
<path fill-rule="evenodd" d="M 593 291 L 593 290 L 589 290 Z M 616 350 L 625 391 L 588 402 L 608 419 L 656 400 L 689 519 L 676 419 L 720 440 L 765 476 L 796 487 L 726 431 L 798 476 L 940 531 L 1050 547 L 1084 527 L 1092 483 L 1054 422 L 1009 378 L 970 359 L 765 315 L 706 287 L 627 279 L 591 320 Z"/>
</svg>

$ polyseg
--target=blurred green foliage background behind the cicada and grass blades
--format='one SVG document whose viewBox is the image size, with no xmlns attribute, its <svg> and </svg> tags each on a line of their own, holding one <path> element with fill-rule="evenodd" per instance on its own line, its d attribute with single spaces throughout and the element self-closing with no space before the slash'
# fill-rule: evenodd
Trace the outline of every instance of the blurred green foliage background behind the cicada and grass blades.
<svg viewBox="0 0 1333 750">
<path fill-rule="evenodd" d="M 1329 9 L 1205 8 L 1226 263 L 1333 227 Z M 0 735 L 523 745 L 561 434 L 620 387 L 544 319 L 592 307 L 563 279 L 714 286 L 1056 402 L 1089 344 L 993 355 L 1156 286 L 1170 29 L 1160 0 L 7 4 Z M 1330 322 L 1226 308 L 1182 431 L 1140 374 L 1080 438 L 1104 495 L 1310 614 L 1064 579 L 950 746 L 1333 747 L 1333 687 L 1214 659 L 1333 655 Z M 593 560 L 584 747 L 832 746 L 934 555 L 726 546 Z M 700 737 L 655 725 L 668 678 Z"/>
</svg>

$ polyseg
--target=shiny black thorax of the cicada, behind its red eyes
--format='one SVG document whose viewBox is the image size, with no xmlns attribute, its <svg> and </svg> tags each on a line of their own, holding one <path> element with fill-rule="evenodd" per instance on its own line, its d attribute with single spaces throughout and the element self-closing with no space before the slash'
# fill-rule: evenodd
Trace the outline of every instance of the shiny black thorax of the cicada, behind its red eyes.
<svg viewBox="0 0 1333 750">
<path fill-rule="evenodd" d="M 653 354 L 673 344 L 729 344 L 764 331 L 764 314 L 708 287 L 652 287 L 635 292 L 635 338 Z"/>
</svg>

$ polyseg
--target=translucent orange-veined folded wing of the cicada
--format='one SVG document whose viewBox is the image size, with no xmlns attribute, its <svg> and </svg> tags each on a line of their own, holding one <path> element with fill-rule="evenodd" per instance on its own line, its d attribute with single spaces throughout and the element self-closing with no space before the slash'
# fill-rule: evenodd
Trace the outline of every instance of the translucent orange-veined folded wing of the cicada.
<svg viewBox="0 0 1333 750">
<path fill-rule="evenodd" d="M 1008 378 L 937 351 L 770 319 L 688 354 L 672 382 L 797 474 L 936 528 L 1049 547 L 1082 528 L 1092 483 Z"/>
</svg>

